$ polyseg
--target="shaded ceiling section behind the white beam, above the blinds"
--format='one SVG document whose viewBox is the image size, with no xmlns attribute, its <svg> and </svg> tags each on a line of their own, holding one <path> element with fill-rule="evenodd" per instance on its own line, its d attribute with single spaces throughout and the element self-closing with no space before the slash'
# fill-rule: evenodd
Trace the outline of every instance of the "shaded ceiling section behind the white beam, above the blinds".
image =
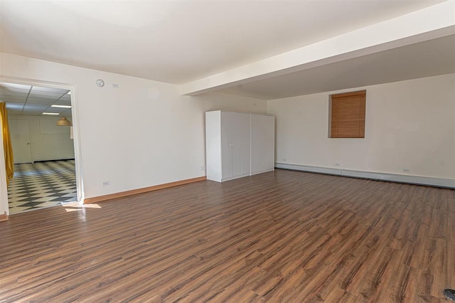
<svg viewBox="0 0 455 303">
<path fill-rule="evenodd" d="M 449 73 L 455 73 L 455 35 L 219 91 L 272 100 Z"/>
</svg>

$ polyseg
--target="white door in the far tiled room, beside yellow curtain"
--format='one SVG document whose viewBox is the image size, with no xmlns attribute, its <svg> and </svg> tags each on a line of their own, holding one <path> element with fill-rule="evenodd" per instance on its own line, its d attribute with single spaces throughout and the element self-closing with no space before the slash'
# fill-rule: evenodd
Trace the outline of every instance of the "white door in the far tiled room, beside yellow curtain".
<svg viewBox="0 0 455 303">
<path fill-rule="evenodd" d="M 28 120 L 9 119 L 9 134 L 13 145 L 14 164 L 32 163 Z"/>
</svg>

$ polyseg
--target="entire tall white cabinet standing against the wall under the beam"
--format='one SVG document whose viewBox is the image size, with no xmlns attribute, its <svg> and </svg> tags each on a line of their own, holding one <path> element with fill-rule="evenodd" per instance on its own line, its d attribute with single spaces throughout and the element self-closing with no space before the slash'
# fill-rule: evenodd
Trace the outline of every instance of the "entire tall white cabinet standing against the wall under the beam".
<svg viewBox="0 0 455 303">
<path fill-rule="evenodd" d="M 260 129 L 253 130 L 253 123 Z M 254 142 L 252 136 L 256 138 Z M 252 144 L 257 144 L 254 152 Z M 205 112 L 205 154 L 207 179 L 213 181 L 273 170 L 274 117 L 220 110 Z"/>
</svg>

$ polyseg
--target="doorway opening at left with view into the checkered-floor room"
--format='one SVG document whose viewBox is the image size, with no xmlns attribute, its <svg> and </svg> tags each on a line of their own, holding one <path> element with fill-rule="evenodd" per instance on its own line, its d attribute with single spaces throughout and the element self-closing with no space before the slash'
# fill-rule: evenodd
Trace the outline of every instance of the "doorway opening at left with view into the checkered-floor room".
<svg viewBox="0 0 455 303">
<path fill-rule="evenodd" d="M 10 215 L 82 202 L 74 92 L 53 83 L 0 82 L 14 154 L 14 178 L 7 188 Z M 58 125 L 62 117 L 72 124 Z"/>
</svg>

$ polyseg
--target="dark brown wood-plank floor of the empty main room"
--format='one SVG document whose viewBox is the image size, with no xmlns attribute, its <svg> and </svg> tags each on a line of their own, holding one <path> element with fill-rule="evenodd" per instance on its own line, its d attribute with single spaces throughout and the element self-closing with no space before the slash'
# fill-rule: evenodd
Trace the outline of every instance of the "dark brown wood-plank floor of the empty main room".
<svg viewBox="0 0 455 303">
<path fill-rule="evenodd" d="M 1 302 L 446 302 L 455 191 L 276 170 L 0 222 Z"/>
</svg>

